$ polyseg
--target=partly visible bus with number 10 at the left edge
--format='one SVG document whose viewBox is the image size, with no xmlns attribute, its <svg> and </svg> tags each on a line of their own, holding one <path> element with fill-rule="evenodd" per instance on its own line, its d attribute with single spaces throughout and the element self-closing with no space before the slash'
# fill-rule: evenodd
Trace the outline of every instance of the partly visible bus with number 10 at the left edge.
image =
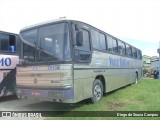
<svg viewBox="0 0 160 120">
<path fill-rule="evenodd" d="M 19 35 L 0 31 L 0 97 L 15 94 Z"/>
</svg>

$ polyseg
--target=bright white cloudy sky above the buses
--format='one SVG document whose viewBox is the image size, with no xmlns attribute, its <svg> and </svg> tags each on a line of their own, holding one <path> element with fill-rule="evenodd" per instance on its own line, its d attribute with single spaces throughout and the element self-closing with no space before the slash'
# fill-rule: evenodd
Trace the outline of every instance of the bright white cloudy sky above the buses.
<svg viewBox="0 0 160 120">
<path fill-rule="evenodd" d="M 160 0 L 0 0 L 3 31 L 19 33 L 25 26 L 63 16 L 120 38 L 143 55 L 158 55 Z"/>
</svg>

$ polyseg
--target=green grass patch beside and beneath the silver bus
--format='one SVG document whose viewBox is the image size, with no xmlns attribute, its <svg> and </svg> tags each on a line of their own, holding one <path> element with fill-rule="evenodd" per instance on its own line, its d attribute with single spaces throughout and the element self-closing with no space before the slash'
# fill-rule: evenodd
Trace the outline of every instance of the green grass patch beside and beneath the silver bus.
<svg viewBox="0 0 160 120">
<path fill-rule="evenodd" d="M 70 111 L 160 111 L 160 80 L 141 79 L 138 84 L 132 84 L 104 95 L 97 104 L 88 104 L 85 101 L 75 104 L 69 108 Z M 47 118 L 51 120 L 55 118 Z M 57 119 L 57 118 L 56 118 Z M 121 120 L 120 117 L 66 117 L 59 119 L 109 119 Z M 125 118 L 126 120 L 135 119 Z M 137 119 L 137 117 L 136 117 Z M 138 118 L 140 120 L 150 117 Z M 160 119 L 160 118 L 153 118 Z"/>
</svg>

